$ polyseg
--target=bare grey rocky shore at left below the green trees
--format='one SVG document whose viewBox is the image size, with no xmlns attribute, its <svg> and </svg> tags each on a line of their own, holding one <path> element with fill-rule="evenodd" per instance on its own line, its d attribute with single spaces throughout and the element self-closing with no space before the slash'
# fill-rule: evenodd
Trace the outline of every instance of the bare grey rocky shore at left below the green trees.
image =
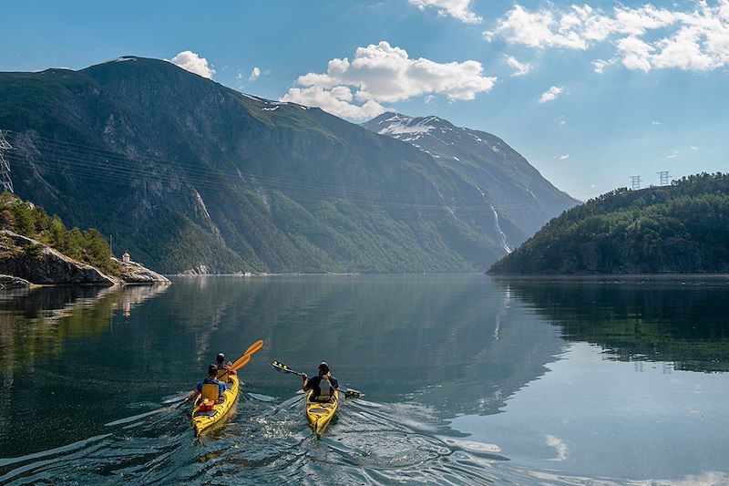
<svg viewBox="0 0 729 486">
<path fill-rule="evenodd" d="M 0 288 L 31 284 L 129 285 L 169 284 L 169 279 L 133 262 L 121 262 L 117 275 L 104 274 L 32 238 L 0 232 Z"/>
</svg>

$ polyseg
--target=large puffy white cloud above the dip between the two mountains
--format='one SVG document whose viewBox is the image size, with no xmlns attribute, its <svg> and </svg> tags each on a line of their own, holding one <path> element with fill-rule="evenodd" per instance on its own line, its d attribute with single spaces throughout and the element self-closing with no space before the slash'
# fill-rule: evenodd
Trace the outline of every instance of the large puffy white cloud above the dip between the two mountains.
<svg viewBox="0 0 729 486">
<path fill-rule="evenodd" d="M 357 47 L 352 61 L 332 59 L 325 73 L 300 76 L 281 100 L 320 107 L 347 119 L 368 119 L 385 112 L 382 103 L 413 97 L 474 99 L 477 93 L 488 93 L 496 80 L 483 76 L 477 61 L 411 59 L 405 49 L 382 41 Z"/>
</svg>

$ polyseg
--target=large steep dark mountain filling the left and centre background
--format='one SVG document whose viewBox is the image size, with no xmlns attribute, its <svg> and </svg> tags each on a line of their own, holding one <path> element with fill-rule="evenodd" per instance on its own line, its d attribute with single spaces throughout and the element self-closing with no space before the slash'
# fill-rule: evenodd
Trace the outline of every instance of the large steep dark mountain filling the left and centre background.
<svg viewBox="0 0 729 486">
<path fill-rule="evenodd" d="M 164 273 L 474 271 L 505 253 L 481 190 L 435 157 L 166 61 L 0 73 L 0 99 L 15 191 Z"/>
</svg>

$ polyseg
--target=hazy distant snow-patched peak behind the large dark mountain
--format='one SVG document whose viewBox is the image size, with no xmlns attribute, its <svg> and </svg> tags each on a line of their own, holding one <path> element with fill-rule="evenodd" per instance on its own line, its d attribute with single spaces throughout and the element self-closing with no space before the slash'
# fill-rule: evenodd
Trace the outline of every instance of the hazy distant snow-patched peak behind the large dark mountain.
<svg viewBox="0 0 729 486">
<path fill-rule="evenodd" d="M 488 210 L 480 217 L 493 220 L 490 233 L 507 251 L 579 203 L 544 179 L 504 140 L 485 131 L 456 127 L 438 117 L 414 118 L 392 112 L 363 126 L 410 143 L 472 186 L 480 200 L 463 203 L 464 207 L 476 213 Z M 486 227 L 484 231 L 489 233 Z"/>
</svg>

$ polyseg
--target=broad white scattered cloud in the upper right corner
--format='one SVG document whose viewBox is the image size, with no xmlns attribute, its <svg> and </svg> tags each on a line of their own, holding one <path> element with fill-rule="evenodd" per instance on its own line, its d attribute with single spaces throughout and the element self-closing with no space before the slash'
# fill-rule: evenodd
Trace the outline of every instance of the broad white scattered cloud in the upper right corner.
<svg viewBox="0 0 729 486">
<path fill-rule="evenodd" d="M 693 10 L 618 4 L 608 13 L 590 5 L 568 10 L 514 5 L 484 36 L 539 49 L 587 50 L 610 43 L 615 57 L 593 61 L 598 73 L 617 62 L 643 72 L 709 71 L 729 66 L 729 0 L 702 0 Z"/>
</svg>

